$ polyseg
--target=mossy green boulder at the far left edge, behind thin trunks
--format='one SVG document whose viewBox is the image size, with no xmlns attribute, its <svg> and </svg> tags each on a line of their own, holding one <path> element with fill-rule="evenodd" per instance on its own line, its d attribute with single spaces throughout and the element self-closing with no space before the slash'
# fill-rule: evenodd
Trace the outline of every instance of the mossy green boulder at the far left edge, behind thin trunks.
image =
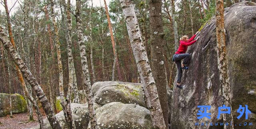
<svg viewBox="0 0 256 129">
<path fill-rule="evenodd" d="M 28 111 L 26 100 L 22 95 L 0 93 L 0 117 L 10 114 L 10 96 L 12 97 L 12 114 Z"/>
</svg>

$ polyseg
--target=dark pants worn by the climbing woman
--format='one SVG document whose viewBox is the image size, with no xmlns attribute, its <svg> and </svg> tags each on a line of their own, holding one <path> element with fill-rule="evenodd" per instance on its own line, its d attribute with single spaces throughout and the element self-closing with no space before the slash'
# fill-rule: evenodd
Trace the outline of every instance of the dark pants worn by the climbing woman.
<svg viewBox="0 0 256 129">
<path fill-rule="evenodd" d="M 181 60 L 183 60 L 183 64 L 188 64 L 189 59 L 190 59 L 190 54 L 174 54 L 173 55 L 173 60 L 176 63 L 176 66 L 178 68 L 178 79 L 177 83 L 180 83 L 181 81 L 181 76 L 182 76 L 182 68 L 181 68 Z"/>
</svg>

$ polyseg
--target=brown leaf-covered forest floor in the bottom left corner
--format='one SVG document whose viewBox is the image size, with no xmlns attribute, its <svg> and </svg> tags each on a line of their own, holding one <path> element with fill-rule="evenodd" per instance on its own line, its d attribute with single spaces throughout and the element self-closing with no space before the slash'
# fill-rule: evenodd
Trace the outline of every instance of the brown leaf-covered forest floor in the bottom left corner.
<svg viewBox="0 0 256 129">
<path fill-rule="evenodd" d="M 43 119 L 46 119 L 47 117 L 42 109 L 41 113 L 43 113 Z M 28 112 L 13 114 L 13 118 L 10 118 L 10 115 L 0 117 L 0 121 L 2 123 L 0 125 L 0 129 L 29 129 L 38 126 L 39 123 L 36 116 L 36 111 L 34 110 L 33 112 L 35 121 L 28 121 L 28 114 Z"/>
</svg>

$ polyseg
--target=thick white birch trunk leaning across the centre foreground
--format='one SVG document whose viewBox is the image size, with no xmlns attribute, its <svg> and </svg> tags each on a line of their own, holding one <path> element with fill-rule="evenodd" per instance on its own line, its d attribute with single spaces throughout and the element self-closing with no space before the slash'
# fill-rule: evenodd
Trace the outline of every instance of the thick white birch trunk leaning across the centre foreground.
<svg viewBox="0 0 256 129">
<path fill-rule="evenodd" d="M 143 46 L 142 35 L 140 32 L 138 19 L 135 14 L 134 5 L 131 0 L 120 0 L 124 19 L 130 37 L 133 54 L 136 60 L 141 81 L 144 86 L 145 96 L 148 101 L 148 107 L 151 113 L 151 119 L 154 128 L 166 129 L 164 117 L 158 99 L 156 83 L 154 81 L 152 70 L 148 63 L 148 56 Z"/>
</svg>

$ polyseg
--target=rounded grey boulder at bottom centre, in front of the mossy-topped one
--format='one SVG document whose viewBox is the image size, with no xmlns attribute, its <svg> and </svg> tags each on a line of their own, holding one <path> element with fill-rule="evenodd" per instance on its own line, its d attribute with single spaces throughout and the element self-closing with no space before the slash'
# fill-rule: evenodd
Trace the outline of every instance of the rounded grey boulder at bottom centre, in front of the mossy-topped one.
<svg viewBox="0 0 256 129">
<path fill-rule="evenodd" d="M 100 129 L 153 129 L 150 111 L 135 104 L 112 102 L 96 109 Z"/>
</svg>

